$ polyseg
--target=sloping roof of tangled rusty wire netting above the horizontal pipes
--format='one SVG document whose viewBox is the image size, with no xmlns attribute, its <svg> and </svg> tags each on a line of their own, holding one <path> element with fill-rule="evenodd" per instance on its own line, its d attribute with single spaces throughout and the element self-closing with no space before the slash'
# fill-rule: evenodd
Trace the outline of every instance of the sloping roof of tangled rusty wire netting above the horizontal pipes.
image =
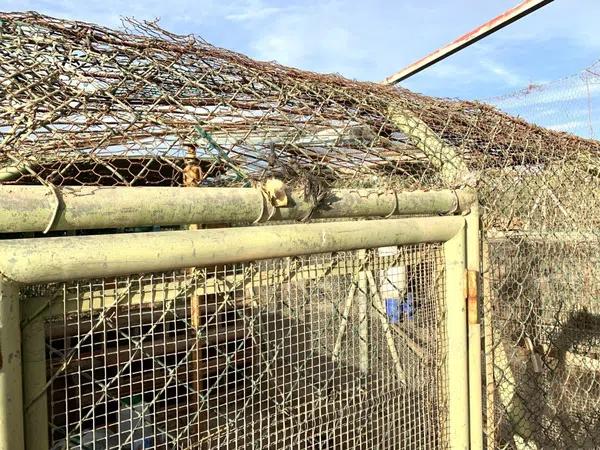
<svg viewBox="0 0 600 450">
<path fill-rule="evenodd" d="M 196 155 L 206 184 L 436 187 L 449 154 L 481 171 L 600 150 L 489 105 L 258 62 L 156 23 L 0 21 L 4 182 L 176 185 Z"/>
</svg>

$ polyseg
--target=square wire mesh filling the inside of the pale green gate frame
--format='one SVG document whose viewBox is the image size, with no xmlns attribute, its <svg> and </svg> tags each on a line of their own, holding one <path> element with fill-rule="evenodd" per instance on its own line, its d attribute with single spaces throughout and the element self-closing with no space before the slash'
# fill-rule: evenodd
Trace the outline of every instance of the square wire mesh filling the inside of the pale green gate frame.
<svg viewBox="0 0 600 450">
<path fill-rule="evenodd" d="M 32 289 L 54 448 L 443 448 L 442 277 L 429 244 Z"/>
</svg>

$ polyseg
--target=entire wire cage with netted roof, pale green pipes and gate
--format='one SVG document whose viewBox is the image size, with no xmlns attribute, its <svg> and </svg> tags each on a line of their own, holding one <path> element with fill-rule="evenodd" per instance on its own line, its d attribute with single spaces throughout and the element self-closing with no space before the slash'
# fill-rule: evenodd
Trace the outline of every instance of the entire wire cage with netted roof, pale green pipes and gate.
<svg viewBox="0 0 600 450">
<path fill-rule="evenodd" d="M 600 143 L 124 25 L 0 14 L 27 448 L 600 445 Z"/>
</svg>

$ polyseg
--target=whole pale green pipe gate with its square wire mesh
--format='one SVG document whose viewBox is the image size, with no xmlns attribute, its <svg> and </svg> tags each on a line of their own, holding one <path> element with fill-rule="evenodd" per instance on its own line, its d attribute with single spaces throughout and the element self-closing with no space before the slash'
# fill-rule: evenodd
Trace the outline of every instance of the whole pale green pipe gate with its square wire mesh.
<svg viewBox="0 0 600 450">
<path fill-rule="evenodd" d="M 423 217 L 2 241 L 4 448 L 477 447 L 478 217 L 450 194 Z"/>
</svg>

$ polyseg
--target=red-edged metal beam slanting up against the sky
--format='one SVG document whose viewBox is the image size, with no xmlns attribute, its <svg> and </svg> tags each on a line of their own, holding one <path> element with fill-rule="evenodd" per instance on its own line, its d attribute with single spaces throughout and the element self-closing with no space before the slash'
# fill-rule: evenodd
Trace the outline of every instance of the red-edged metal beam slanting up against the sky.
<svg viewBox="0 0 600 450">
<path fill-rule="evenodd" d="M 524 0 L 514 8 L 511 8 L 492 20 L 484 23 L 483 25 L 475 28 L 473 31 L 469 31 L 463 34 L 458 39 L 450 42 L 448 45 L 439 48 L 438 50 L 430 53 L 429 55 L 421 58 L 420 60 L 412 63 L 410 66 L 405 67 L 399 72 L 390 75 L 382 81 L 383 84 L 396 84 L 402 80 L 406 80 L 408 77 L 420 72 L 423 69 L 447 58 L 450 55 L 468 47 L 471 44 L 483 39 L 486 36 L 504 28 L 507 25 L 519 20 L 521 17 L 525 17 L 531 14 L 535 10 L 547 5 L 553 0 Z"/>
</svg>

